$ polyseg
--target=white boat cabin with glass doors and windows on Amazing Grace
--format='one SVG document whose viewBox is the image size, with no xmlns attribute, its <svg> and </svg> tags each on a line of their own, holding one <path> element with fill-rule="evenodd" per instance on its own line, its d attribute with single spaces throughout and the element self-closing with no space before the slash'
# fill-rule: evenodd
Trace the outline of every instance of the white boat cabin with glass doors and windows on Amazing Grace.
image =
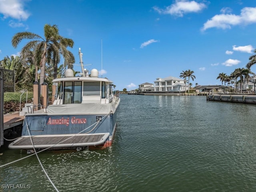
<svg viewBox="0 0 256 192">
<path fill-rule="evenodd" d="M 57 78 L 53 104 L 107 104 L 113 101 L 112 81 L 96 75 Z"/>
</svg>

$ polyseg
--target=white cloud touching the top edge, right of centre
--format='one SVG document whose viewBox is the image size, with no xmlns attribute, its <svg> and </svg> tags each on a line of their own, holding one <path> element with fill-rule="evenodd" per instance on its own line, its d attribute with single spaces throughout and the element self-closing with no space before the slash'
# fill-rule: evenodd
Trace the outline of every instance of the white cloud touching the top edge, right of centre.
<svg viewBox="0 0 256 192">
<path fill-rule="evenodd" d="M 166 9 L 160 9 L 157 6 L 153 7 L 160 14 L 171 14 L 179 17 L 186 13 L 199 12 L 204 8 L 206 8 L 206 4 L 188 0 L 176 0 L 174 4 L 166 7 Z"/>
</svg>

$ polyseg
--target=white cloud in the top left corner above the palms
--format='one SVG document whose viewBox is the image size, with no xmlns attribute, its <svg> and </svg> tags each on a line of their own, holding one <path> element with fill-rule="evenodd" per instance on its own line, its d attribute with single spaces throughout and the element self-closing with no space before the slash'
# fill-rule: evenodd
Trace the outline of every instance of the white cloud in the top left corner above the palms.
<svg viewBox="0 0 256 192">
<path fill-rule="evenodd" d="M 10 17 L 18 20 L 26 20 L 30 14 L 24 10 L 24 2 L 27 0 L 0 0 L 0 13 L 4 19 Z"/>
</svg>

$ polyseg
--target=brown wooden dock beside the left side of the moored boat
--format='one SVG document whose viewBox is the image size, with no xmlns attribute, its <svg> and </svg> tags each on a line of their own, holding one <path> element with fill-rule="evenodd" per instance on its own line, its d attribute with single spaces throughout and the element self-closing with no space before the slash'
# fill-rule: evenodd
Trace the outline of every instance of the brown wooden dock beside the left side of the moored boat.
<svg viewBox="0 0 256 192">
<path fill-rule="evenodd" d="M 24 116 L 20 112 L 4 115 L 4 130 L 23 124 Z"/>
</svg>

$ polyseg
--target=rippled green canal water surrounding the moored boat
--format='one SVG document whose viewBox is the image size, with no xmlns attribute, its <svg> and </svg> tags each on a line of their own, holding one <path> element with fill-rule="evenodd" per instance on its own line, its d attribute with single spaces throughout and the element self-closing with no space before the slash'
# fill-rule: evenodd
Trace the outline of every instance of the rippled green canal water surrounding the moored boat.
<svg viewBox="0 0 256 192">
<path fill-rule="evenodd" d="M 38 156 L 61 192 L 255 192 L 255 114 L 206 96 L 121 95 L 111 148 Z M 27 156 L 2 152 L 0 165 Z M 55 191 L 36 156 L 0 168 L 1 190 Z"/>
</svg>

